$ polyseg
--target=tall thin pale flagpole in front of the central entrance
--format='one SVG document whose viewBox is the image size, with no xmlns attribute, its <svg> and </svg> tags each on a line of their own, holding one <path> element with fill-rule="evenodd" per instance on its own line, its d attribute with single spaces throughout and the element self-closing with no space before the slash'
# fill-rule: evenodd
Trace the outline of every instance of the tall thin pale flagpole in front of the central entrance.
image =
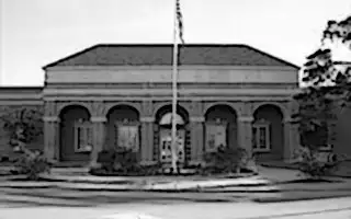
<svg viewBox="0 0 351 219">
<path fill-rule="evenodd" d="M 172 169 L 177 172 L 177 80 L 178 80 L 178 43 L 177 43 L 177 1 L 174 0 L 174 27 L 173 27 L 173 69 L 172 69 Z"/>
</svg>

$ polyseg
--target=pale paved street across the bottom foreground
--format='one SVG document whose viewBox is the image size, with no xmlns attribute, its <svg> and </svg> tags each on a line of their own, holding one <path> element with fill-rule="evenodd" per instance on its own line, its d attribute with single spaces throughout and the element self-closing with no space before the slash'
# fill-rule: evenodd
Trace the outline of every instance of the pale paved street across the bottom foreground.
<svg viewBox="0 0 351 219">
<path fill-rule="evenodd" d="M 33 191 L 27 193 L 21 189 L 2 192 L 0 194 L 2 200 L 0 219 L 98 219 L 123 212 L 127 215 L 140 214 L 140 219 L 143 219 L 143 215 L 167 219 L 351 218 L 351 198 L 258 204 L 245 201 L 238 194 L 230 193 L 104 192 L 99 195 L 99 192 L 38 189 L 35 192 L 36 196 L 29 196 L 30 193 L 33 194 Z M 44 194 L 46 194 L 45 197 Z M 58 198 L 58 194 L 60 194 L 60 198 Z M 11 198 L 13 201 L 10 201 Z M 137 217 L 124 215 L 122 218 Z"/>
</svg>

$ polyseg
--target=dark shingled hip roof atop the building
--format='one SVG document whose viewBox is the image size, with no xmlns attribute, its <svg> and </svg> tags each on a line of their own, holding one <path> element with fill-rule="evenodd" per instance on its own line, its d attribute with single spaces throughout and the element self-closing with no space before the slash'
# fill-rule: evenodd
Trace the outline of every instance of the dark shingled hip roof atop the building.
<svg viewBox="0 0 351 219">
<path fill-rule="evenodd" d="M 172 44 L 102 44 L 44 67 L 56 66 L 169 66 Z M 180 65 L 297 66 L 241 44 L 189 44 L 180 47 Z"/>
</svg>

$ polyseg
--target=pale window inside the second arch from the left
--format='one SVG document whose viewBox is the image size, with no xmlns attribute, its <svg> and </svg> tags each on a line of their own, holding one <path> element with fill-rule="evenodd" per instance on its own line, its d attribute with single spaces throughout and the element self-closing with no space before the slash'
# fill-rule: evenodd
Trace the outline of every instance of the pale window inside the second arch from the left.
<svg viewBox="0 0 351 219">
<path fill-rule="evenodd" d="M 116 147 L 132 149 L 133 152 L 139 150 L 139 125 L 137 123 L 115 124 Z"/>
</svg>

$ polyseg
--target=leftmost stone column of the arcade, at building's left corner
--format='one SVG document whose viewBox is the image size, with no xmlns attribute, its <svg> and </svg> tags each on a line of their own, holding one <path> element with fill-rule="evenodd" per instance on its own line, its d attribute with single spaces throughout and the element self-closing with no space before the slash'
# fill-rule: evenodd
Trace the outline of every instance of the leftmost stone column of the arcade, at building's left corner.
<svg viewBox="0 0 351 219">
<path fill-rule="evenodd" d="M 59 118 L 45 116 L 44 120 L 44 154 L 49 160 L 59 160 Z"/>
</svg>

